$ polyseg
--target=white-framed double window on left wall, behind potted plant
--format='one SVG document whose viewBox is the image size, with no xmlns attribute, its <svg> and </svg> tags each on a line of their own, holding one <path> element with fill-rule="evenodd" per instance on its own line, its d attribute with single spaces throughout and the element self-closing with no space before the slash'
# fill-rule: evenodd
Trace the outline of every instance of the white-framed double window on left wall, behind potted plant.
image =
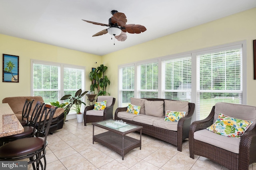
<svg viewBox="0 0 256 170">
<path fill-rule="evenodd" d="M 32 95 L 42 96 L 45 103 L 60 101 L 62 96 L 74 95 L 78 89 L 84 91 L 84 67 L 35 60 L 31 63 Z"/>
</svg>

